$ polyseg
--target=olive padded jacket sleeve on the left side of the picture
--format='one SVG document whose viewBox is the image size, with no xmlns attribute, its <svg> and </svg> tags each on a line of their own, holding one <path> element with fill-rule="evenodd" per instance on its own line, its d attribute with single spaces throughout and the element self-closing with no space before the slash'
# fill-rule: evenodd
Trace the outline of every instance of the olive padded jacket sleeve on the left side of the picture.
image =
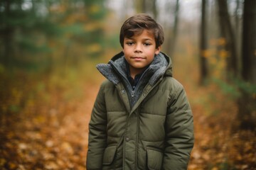
<svg viewBox="0 0 256 170">
<path fill-rule="evenodd" d="M 107 142 L 107 113 L 104 89 L 101 86 L 92 109 L 89 123 L 89 143 L 86 168 L 102 169 L 102 157 Z"/>
</svg>

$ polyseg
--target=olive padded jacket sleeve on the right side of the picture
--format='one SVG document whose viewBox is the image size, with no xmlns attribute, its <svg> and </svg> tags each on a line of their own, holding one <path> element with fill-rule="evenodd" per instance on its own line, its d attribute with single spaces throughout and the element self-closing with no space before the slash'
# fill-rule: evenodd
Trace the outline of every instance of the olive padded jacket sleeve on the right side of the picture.
<svg viewBox="0 0 256 170">
<path fill-rule="evenodd" d="M 171 95 L 166 115 L 163 169 L 187 169 L 193 148 L 193 115 L 181 84 Z"/>
</svg>

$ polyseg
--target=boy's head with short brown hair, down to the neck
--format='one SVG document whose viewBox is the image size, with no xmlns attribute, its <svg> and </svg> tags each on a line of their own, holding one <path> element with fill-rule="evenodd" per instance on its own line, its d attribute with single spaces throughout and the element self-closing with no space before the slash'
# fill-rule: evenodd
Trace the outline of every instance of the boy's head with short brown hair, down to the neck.
<svg viewBox="0 0 256 170">
<path fill-rule="evenodd" d="M 163 29 L 150 16 L 141 13 L 124 22 L 120 30 L 120 43 L 132 78 L 142 73 L 154 60 L 163 42 Z"/>
</svg>

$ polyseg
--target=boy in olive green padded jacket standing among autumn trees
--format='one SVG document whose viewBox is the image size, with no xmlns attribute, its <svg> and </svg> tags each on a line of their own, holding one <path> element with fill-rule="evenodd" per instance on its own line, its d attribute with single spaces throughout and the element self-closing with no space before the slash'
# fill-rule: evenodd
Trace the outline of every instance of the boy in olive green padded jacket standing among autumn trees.
<svg viewBox="0 0 256 170">
<path fill-rule="evenodd" d="M 187 169 L 193 115 L 171 59 L 160 52 L 161 26 L 146 14 L 128 18 L 122 52 L 97 69 L 102 83 L 89 124 L 87 170 Z"/>
</svg>

